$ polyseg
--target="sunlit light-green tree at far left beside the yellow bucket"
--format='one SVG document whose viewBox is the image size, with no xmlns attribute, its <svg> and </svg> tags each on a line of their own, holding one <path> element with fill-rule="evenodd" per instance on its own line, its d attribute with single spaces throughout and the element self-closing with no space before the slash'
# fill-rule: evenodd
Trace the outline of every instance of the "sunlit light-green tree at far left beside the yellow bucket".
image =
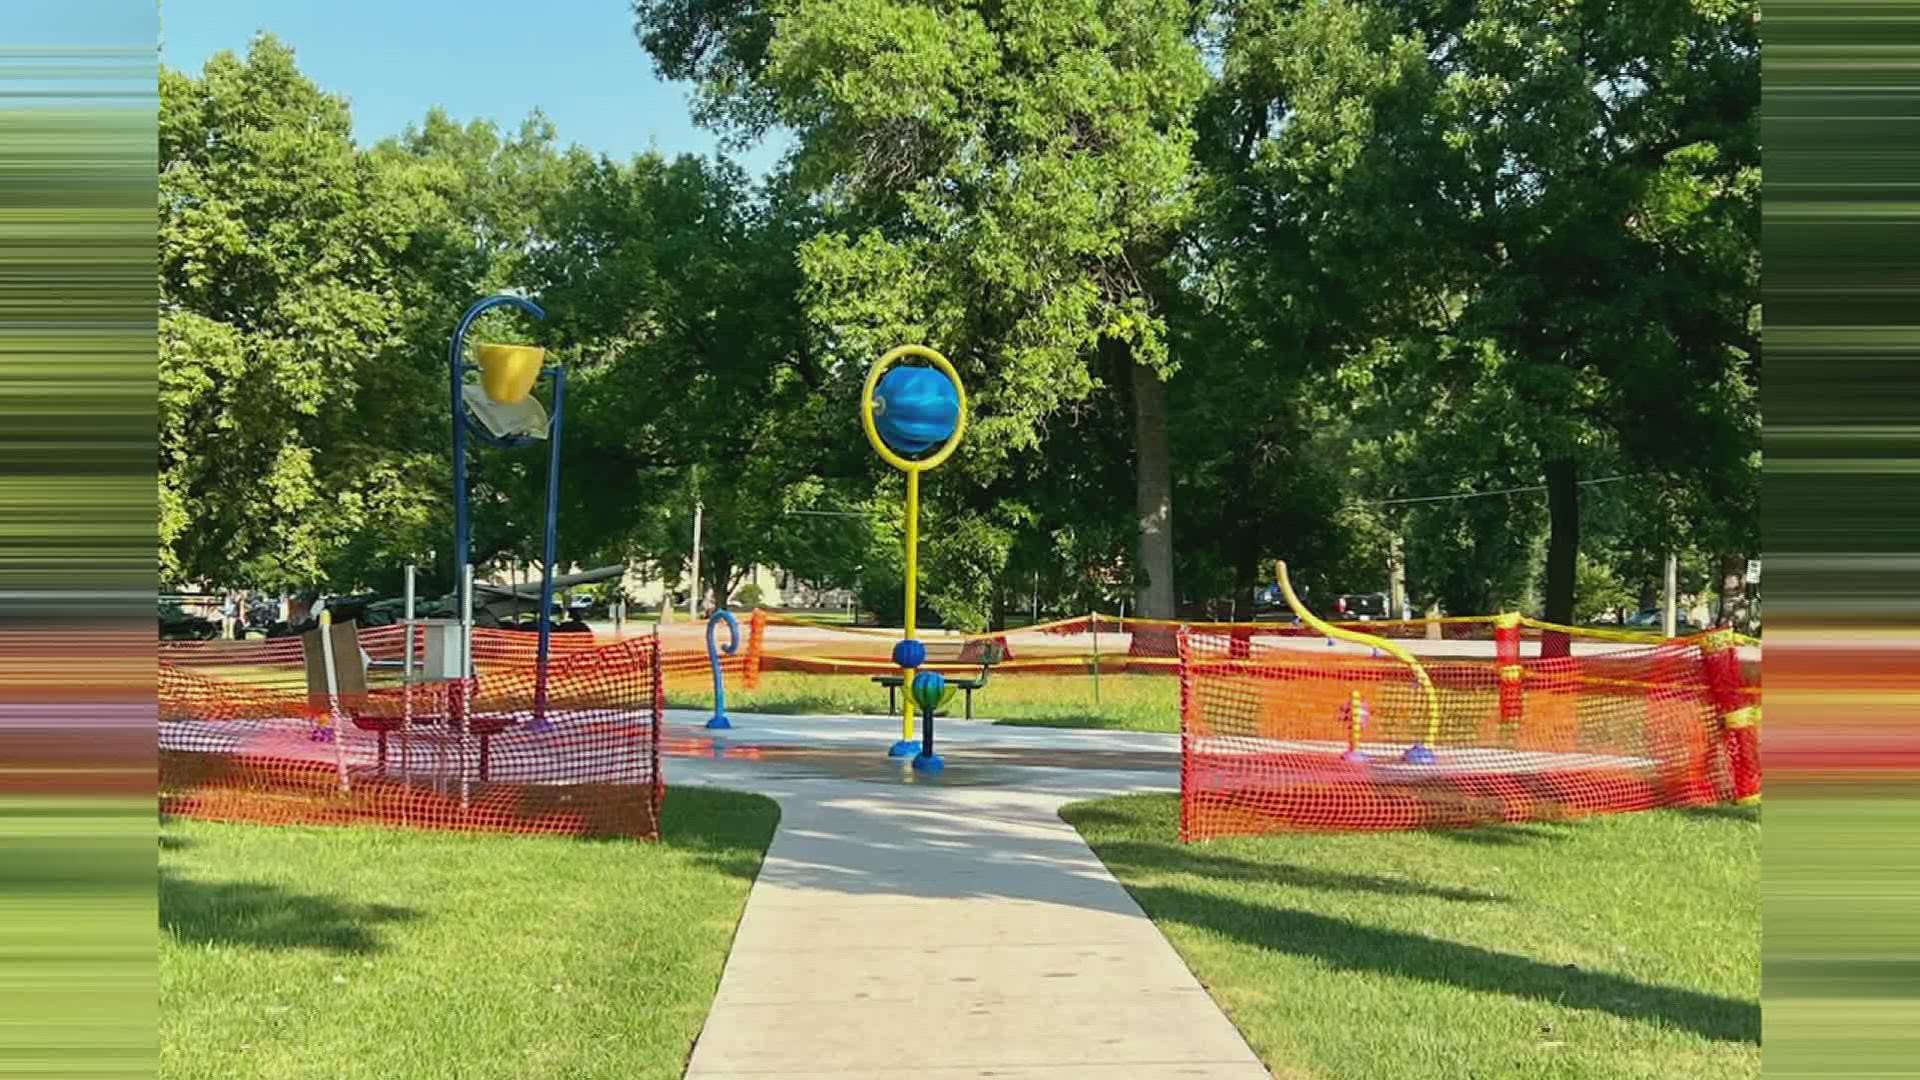
<svg viewBox="0 0 1920 1080">
<path fill-rule="evenodd" d="M 357 415 L 401 342 L 409 223 L 376 206 L 346 102 L 271 37 L 159 92 L 163 578 L 326 580 L 420 509 Z"/>
</svg>

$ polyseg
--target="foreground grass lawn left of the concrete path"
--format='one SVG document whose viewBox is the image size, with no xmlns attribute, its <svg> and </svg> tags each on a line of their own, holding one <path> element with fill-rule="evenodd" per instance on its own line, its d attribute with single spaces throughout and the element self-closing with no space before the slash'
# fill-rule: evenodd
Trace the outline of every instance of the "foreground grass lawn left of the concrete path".
<svg viewBox="0 0 1920 1080">
<path fill-rule="evenodd" d="M 169 821 L 161 1074 L 678 1078 L 780 809 L 659 844 Z"/>
</svg>

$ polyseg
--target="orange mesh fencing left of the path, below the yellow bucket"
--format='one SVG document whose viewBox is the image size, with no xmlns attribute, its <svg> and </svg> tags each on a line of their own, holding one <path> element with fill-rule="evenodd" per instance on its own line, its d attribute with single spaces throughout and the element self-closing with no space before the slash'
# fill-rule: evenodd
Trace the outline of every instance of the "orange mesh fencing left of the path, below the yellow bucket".
<svg viewBox="0 0 1920 1080">
<path fill-rule="evenodd" d="M 520 663 L 516 642 L 492 636 L 474 632 L 476 657 L 492 655 L 474 678 L 372 682 L 334 700 L 307 694 L 298 638 L 161 650 L 161 809 L 271 824 L 657 838 L 659 644 L 555 648 L 541 707 L 532 653 Z M 388 626 L 361 642 L 371 655 L 405 648 Z"/>
</svg>

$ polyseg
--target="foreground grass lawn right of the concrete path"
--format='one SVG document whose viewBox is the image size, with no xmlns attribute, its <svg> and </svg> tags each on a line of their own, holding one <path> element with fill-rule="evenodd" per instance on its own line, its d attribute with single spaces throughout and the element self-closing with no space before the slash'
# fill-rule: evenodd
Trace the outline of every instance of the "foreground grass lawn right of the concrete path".
<svg viewBox="0 0 1920 1080">
<path fill-rule="evenodd" d="M 1281 1080 L 1761 1072 L 1757 813 L 1200 846 L 1177 796 L 1062 817 Z"/>
</svg>

